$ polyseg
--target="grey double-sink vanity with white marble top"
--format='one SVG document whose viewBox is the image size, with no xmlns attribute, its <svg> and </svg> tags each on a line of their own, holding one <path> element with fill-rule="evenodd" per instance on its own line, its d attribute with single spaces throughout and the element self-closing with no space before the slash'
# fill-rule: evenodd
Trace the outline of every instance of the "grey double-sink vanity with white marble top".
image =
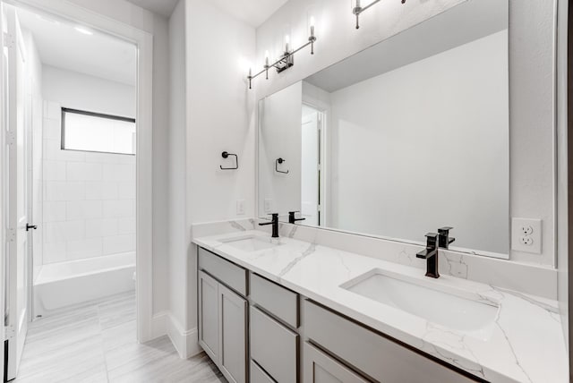
<svg viewBox="0 0 573 383">
<path fill-rule="evenodd" d="M 258 230 L 193 242 L 231 382 L 566 381 L 556 302 Z"/>
</svg>

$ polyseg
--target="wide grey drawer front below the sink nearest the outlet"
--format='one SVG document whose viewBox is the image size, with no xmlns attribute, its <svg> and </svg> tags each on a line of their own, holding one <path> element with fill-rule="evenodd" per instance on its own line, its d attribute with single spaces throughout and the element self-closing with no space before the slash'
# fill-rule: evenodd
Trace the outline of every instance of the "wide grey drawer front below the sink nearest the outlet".
<svg viewBox="0 0 573 383">
<path fill-rule="evenodd" d="M 330 353 L 384 383 L 467 383 L 469 379 L 367 328 L 304 301 L 304 331 Z"/>
</svg>

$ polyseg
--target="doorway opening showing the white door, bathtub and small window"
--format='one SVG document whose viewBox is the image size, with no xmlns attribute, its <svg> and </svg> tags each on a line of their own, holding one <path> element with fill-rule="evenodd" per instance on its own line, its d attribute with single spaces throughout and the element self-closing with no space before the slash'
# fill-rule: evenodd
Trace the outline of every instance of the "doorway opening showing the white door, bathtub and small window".
<svg viewBox="0 0 573 383">
<path fill-rule="evenodd" d="M 4 47 L 10 380 L 28 329 L 64 312 L 120 302 L 115 319 L 99 319 L 131 321 L 135 336 L 138 48 L 30 8 L 3 4 L 3 21 L 13 37 Z"/>
</svg>

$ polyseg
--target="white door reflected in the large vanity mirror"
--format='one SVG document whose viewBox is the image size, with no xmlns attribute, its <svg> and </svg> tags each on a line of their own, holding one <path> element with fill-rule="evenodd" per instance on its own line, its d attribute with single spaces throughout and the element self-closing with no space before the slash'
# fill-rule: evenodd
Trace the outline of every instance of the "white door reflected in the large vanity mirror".
<svg viewBox="0 0 573 383">
<path fill-rule="evenodd" d="M 301 215 L 304 225 L 319 226 L 320 222 L 320 129 L 319 112 L 303 116 L 301 151 Z"/>
</svg>

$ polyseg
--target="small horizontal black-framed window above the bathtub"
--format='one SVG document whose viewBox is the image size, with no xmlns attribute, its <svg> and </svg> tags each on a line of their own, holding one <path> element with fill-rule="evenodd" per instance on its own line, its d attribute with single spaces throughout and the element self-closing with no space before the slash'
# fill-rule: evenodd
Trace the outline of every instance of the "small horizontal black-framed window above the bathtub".
<svg viewBox="0 0 573 383">
<path fill-rule="evenodd" d="M 62 149 L 135 154 L 135 119 L 62 108 Z"/>
</svg>

